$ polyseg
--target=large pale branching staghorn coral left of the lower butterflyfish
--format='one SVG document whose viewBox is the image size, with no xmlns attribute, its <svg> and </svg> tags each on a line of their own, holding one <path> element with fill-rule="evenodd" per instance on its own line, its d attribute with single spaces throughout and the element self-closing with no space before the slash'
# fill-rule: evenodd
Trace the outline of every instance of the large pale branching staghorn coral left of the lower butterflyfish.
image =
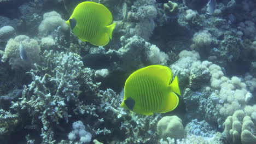
<svg viewBox="0 0 256 144">
<path fill-rule="evenodd" d="M 76 92 L 83 86 L 88 94 L 95 94 L 99 83 L 92 82 L 93 71 L 83 68 L 80 56 L 75 53 L 45 51 L 43 61 L 48 63 L 45 67 L 36 64 L 36 69 L 30 71 L 33 81 L 25 87 L 22 99 L 13 103 L 11 108 L 18 113 L 30 113 L 31 125 L 38 126 L 43 143 L 56 143 L 54 125 L 59 125 L 60 119 L 68 123 L 70 112 L 72 115 L 88 113 L 98 117 L 95 106 L 79 100 Z M 71 107 L 67 105 L 72 103 L 75 105 L 70 111 Z"/>
</svg>

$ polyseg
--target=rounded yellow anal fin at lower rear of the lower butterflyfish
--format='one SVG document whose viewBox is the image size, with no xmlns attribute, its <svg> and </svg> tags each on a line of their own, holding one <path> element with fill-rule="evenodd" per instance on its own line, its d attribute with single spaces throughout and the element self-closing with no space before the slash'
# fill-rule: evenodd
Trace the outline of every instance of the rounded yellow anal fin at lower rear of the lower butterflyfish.
<svg viewBox="0 0 256 144">
<path fill-rule="evenodd" d="M 176 93 L 171 92 L 166 98 L 166 107 L 164 111 L 159 113 L 165 113 L 174 110 L 179 104 L 179 97 Z"/>
</svg>

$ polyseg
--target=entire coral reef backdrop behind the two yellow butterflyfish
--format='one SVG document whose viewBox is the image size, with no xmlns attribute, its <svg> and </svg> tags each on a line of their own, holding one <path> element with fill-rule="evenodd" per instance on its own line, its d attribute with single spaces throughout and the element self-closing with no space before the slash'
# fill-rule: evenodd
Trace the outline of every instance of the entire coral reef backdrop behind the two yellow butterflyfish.
<svg viewBox="0 0 256 144">
<path fill-rule="evenodd" d="M 117 23 L 104 47 L 66 25 L 80 2 L 0 1 L 1 143 L 256 143 L 255 1 L 93 0 Z M 125 80 L 151 64 L 178 76 L 179 105 L 122 109 Z"/>
</svg>

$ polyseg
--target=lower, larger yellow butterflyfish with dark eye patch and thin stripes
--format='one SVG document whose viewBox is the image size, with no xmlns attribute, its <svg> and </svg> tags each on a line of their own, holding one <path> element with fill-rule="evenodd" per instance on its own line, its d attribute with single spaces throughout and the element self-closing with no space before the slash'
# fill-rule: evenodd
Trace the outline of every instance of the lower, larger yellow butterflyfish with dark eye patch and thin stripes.
<svg viewBox="0 0 256 144">
<path fill-rule="evenodd" d="M 125 82 L 121 107 L 142 115 L 174 110 L 181 95 L 178 77 L 162 65 L 150 65 L 133 72 Z M 177 95 L 178 94 L 178 95 Z"/>
</svg>

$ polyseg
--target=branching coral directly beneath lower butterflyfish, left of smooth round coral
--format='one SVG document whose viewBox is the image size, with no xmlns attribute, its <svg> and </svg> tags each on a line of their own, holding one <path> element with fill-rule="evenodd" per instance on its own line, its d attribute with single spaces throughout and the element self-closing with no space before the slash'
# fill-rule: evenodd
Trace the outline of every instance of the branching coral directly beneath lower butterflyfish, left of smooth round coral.
<svg viewBox="0 0 256 144">
<path fill-rule="evenodd" d="M 137 115 L 134 112 L 127 111 L 121 108 L 121 97 L 112 89 L 107 91 L 101 91 L 101 109 L 104 113 L 111 112 L 112 117 L 104 117 L 105 121 L 111 123 L 110 125 L 116 125 L 116 131 L 119 134 L 124 135 L 122 140 L 113 140 L 117 144 L 126 143 L 156 143 L 157 136 L 156 124 L 161 116 L 155 114 L 153 116 Z"/>
</svg>

